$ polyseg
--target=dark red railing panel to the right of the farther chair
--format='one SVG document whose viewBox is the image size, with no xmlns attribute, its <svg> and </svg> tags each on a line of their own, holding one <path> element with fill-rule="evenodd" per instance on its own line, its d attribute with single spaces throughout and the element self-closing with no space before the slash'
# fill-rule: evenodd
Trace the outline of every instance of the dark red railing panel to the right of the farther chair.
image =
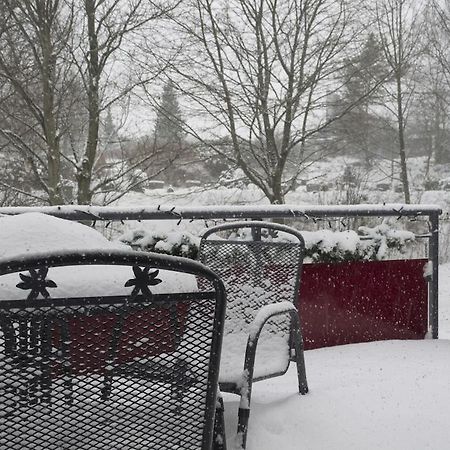
<svg viewBox="0 0 450 450">
<path fill-rule="evenodd" d="M 300 319 L 305 349 L 385 339 L 423 339 L 426 259 L 305 264 Z"/>
</svg>

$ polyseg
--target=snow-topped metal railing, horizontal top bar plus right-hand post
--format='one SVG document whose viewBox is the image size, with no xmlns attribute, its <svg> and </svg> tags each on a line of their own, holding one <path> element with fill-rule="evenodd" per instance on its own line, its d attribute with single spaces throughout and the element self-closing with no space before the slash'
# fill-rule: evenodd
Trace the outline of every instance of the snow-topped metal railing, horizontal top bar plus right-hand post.
<svg viewBox="0 0 450 450">
<path fill-rule="evenodd" d="M 432 265 L 429 278 L 428 322 L 433 339 L 439 332 L 439 215 L 437 205 L 364 204 L 364 205 L 258 205 L 258 206 L 196 206 L 175 207 L 156 205 L 146 207 L 103 207 L 62 205 L 47 207 L 0 208 L 0 215 L 41 212 L 67 220 L 125 221 L 125 220 L 208 220 L 208 219 L 330 219 L 355 217 L 406 217 L 428 221 L 429 232 L 421 237 L 428 239 L 428 259 Z"/>
</svg>

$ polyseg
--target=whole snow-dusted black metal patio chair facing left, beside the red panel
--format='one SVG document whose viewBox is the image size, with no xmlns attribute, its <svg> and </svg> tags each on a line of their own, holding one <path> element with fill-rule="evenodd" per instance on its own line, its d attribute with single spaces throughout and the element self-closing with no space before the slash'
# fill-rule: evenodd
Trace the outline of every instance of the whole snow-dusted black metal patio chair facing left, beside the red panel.
<svg viewBox="0 0 450 450">
<path fill-rule="evenodd" d="M 308 392 L 297 310 L 304 248 L 298 231 L 259 221 L 217 225 L 201 239 L 199 260 L 220 276 L 227 290 L 219 384 L 222 391 L 241 397 L 242 448 L 253 382 L 283 375 L 294 356 L 299 392 Z"/>
</svg>

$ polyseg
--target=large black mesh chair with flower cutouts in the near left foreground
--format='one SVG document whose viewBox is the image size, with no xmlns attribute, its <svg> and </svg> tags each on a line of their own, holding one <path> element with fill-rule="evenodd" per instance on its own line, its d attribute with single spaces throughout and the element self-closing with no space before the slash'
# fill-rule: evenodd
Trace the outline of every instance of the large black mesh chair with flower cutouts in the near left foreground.
<svg viewBox="0 0 450 450">
<path fill-rule="evenodd" d="M 58 296 L 93 265 L 105 276 L 124 266 L 128 293 Z M 202 291 L 174 290 L 182 274 Z M 87 250 L 0 260 L 0 275 L 0 448 L 225 449 L 215 420 L 225 291 L 210 269 Z"/>
</svg>

